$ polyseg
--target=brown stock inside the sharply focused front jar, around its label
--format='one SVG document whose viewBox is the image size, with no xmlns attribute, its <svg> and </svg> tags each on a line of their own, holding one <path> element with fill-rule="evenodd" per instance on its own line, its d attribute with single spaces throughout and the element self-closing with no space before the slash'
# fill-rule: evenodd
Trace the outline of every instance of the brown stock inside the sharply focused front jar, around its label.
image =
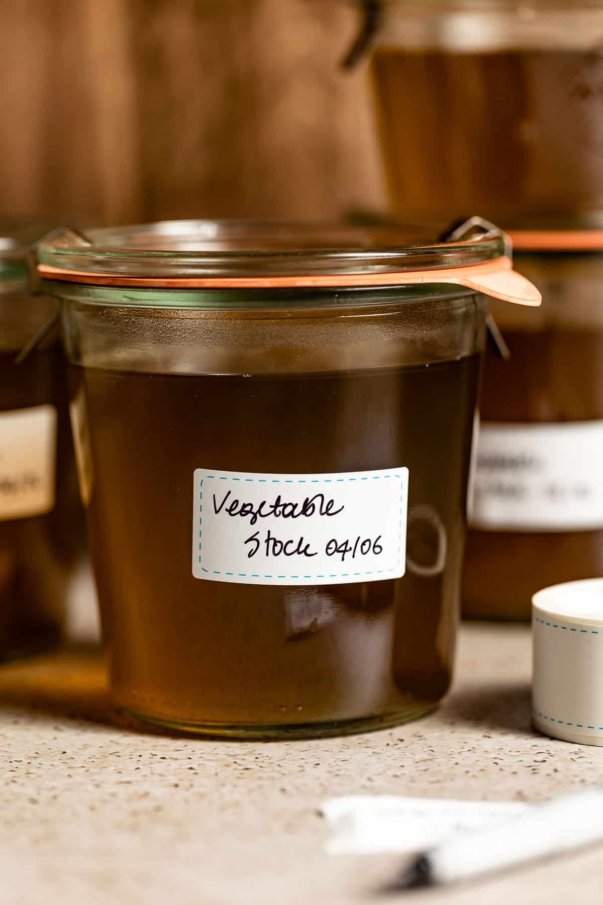
<svg viewBox="0 0 603 905">
<path fill-rule="evenodd" d="M 433 706 L 454 652 L 477 369 L 476 356 L 313 375 L 74 368 L 90 418 L 90 539 L 118 702 L 237 734 L 316 734 Z M 429 505 L 446 528 L 438 575 L 407 567 L 398 580 L 301 587 L 193 577 L 195 468 L 393 465 L 410 470 L 410 509 Z M 429 567 L 437 545 L 419 520 L 409 557 Z"/>
</svg>

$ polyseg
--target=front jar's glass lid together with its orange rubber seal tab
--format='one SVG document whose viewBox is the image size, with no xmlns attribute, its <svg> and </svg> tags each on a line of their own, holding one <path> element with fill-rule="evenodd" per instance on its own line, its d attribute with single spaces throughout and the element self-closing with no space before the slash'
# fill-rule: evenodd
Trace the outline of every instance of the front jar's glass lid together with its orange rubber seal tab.
<svg viewBox="0 0 603 905">
<path fill-rule="evenodd" d="M 56 230 L 36 246 L 46 281 L 156 289 L 282 289 L 457 283 L 537 305 L 495 228 L 438 242 L 425 227 L 165 221 L 85 235 Z"/>
</svg>

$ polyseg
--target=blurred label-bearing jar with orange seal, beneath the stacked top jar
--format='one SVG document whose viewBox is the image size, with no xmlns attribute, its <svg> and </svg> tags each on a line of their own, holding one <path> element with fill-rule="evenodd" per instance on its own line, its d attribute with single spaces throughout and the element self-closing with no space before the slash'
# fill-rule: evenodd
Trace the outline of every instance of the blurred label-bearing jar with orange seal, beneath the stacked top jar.
<svg viewBox="0 0 603 905">
<path fill-rule="evenodd" d="M 603 574 L 603 231 L 512 236 L 544 304 L 491 305 L 511 358 L 485 354 L 463 612 L 495 619 Z"/>
</svg>

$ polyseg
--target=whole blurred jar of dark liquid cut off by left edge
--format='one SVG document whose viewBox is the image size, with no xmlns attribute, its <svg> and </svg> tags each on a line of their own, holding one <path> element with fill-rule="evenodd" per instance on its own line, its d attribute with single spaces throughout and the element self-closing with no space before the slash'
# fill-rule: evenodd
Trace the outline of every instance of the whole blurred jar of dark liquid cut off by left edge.
<svg viewBox="0 0 603 905">
<path fill-rule="evenodd" d="M 25 254 L 42 232 L 0 222 L 0 660 L 58 642 L 84 543 L 56 329 L 15 362 L 55 311 L 27 291 Z"/>
</svg>

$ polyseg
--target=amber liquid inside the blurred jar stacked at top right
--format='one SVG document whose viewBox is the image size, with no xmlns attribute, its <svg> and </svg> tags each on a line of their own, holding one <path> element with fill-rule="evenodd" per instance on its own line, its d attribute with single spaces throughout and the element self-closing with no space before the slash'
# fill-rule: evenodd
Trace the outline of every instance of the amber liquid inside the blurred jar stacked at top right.
<svg viewBox="0 0 603 905">
<path fill-rule="evenodd" d="M 603 206 L 602 66 L 590 52 L 378 50 L 392 210 L 508 221 Z"/>
</svg>

